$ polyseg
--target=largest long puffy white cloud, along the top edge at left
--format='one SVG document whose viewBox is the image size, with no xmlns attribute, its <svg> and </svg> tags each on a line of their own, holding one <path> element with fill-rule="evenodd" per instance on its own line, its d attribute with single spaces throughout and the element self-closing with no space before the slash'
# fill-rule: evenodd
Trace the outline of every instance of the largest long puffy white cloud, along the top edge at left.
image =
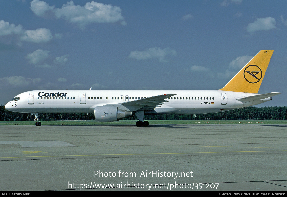
<svg viewBox="0 0 287 197">
<path fill-rule="evenodd" d="M 71 23 L 76 23 L 80 28 L 84 28 L 91 23 L 112 23 L 121 22 L 122 25 L 127 23 L 121 14 L 120 7 L 107 5 L 97 2 L 88 2 L 84 7 L 75 5 L 73 1 L 63 4 L 62 8 L 49 6 L 45 1 L 33 0 L 30 3 L 31 10 L 40 17 L 44 18 L 62 18 Z"/>
</svg>

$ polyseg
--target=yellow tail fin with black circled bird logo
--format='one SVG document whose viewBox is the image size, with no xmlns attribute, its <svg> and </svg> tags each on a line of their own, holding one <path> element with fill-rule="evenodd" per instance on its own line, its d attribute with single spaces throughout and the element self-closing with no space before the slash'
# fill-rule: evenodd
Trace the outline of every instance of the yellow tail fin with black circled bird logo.
<svg viewBox="0 0 287 197">
<path fill-rule="evenodd" d="M 223 88 L 257 94 L 274 50 L 259 51 Z"/>
</svg>

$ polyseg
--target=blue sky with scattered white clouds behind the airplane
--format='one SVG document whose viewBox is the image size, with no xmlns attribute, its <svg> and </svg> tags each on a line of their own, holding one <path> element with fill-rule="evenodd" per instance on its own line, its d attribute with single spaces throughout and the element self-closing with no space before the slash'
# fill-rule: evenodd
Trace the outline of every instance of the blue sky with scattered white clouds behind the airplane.
<svg viewBox="0 0 287 197">
<path fill-rule="evenodd" d="M 274 53 L 257 105 L 286 105 L 287 1 L 0 0 L 0 104 L 38 89 L 215 90 Z M 176 92 L 172 92 L 176 93 Z"/>
</svg>

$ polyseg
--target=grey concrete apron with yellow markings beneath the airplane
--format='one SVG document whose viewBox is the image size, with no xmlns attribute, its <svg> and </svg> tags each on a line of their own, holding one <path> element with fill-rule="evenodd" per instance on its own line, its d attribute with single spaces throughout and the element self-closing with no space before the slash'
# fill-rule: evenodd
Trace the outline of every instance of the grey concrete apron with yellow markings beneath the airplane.
<svg viewBox="0 0 287 197">
<path fill-rule="evenodd" d="M 1 125 L 0 188 L 286 192 L 286 134 L 283 121 Z"/>
</svg>

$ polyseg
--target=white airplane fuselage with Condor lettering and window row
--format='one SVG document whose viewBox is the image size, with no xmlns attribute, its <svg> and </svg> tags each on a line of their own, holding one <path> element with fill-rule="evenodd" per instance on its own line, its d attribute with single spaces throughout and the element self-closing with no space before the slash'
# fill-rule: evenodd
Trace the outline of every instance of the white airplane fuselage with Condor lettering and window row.
<svg viewBox="0 0 287 197">
<path fill-rule="evenodd" d="M 203 114 L 227 111 L 270 100 L 241 102 L 236 99 L 257 94 L 220 90 L 34 90 L 18 94 L 5 108 L 14 112 L 94 113 L 102 105 L 122 104 L 161 94 L 176 94 L 145 115 Z"/>
</svg>

